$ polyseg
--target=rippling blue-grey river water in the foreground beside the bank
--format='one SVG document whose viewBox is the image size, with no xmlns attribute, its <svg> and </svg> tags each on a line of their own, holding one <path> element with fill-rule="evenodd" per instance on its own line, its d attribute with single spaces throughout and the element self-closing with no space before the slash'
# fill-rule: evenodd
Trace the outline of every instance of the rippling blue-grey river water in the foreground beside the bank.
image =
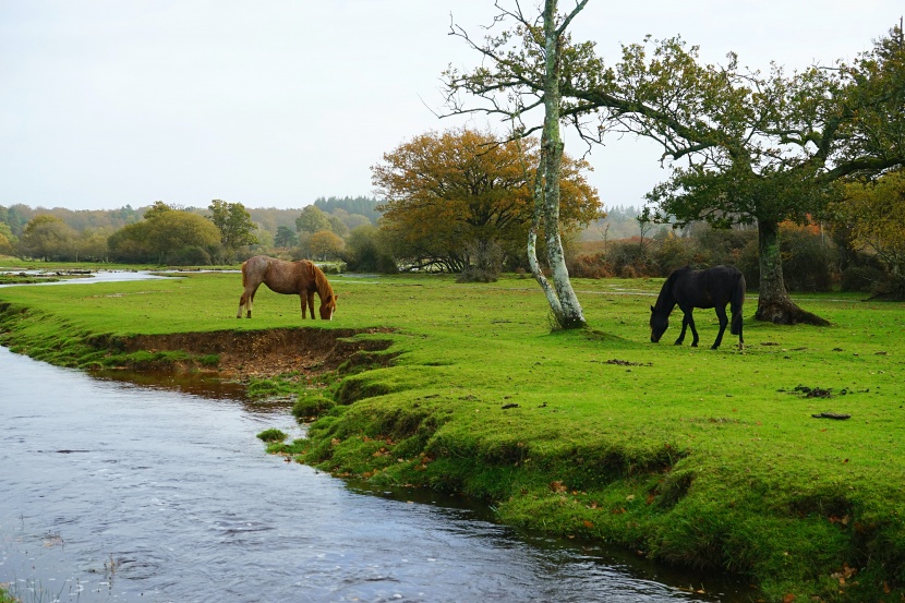
<svg viewBox="0 0 905 603">
<path fill-rule="evenodd" d="M 0 582 L 25 603 L 743 600 L 464 503 L 359 491 L 264 454 L 267 427 L 300 435 L 236 386 L 137 385 L 0 348 Z"/>
</svg>

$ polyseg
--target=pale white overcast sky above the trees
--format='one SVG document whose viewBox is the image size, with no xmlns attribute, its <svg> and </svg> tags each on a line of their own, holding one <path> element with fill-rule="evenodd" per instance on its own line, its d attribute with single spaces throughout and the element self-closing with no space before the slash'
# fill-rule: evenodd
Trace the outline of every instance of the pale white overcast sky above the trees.
<svg viewBox="0 0 905 603">
<path fill-rule="evenodd" d="M 792 71 L 854 58 L 904 11 L 901 0 L 591 0 L 572 35 L 608 63 L 620 43 L 681 35 L 710 62 L 734 50 L 741 64 Z M 370 195 L 384 153 L 463 123 L 431 112 L 443 110 L 447 64 L 480 61 L 447 35 L 450 13 L 482 37 L 496 10 L 493 0 L 0 0 L 0 205 L 302 207 Z M 612 140 L 590 156 L 590 181 L 606 206 L 640 205 L 667 176 L 657 156 L 644 141 Z"/>
</svg>

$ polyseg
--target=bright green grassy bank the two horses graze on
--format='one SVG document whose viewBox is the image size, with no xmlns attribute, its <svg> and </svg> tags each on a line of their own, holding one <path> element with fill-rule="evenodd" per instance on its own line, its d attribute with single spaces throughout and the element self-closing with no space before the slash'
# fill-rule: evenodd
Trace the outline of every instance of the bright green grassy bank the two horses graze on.
<svg viewBox="0 0 905 603">
<path fill-rule="evenodd" d="M 0 342 L 68 365 L 132 334 L 301 324 L 238 275 L 0 289 Z M 905 596 L 905 306 L 798 299 L 830 327 L 745 323 L 744 351 L 649 342 L 654 280 L 577 280 L 590 328 L 551 333 L 530 279 L 333 277 L 327 329 L 391 327 L 342 378 L 298 381 L 310 438 L 275 445 L 338 475 L 463 492 L 502 521 L 748 576 L 769 600 Z M 749 300 L 745 314 L 753 314 Z M 208 363 L 213 364 L 212 361 Z M 370 364 L 373 363 L 373 364 Z M 309 388 L 305 388 L 305 383 Z M 325 388 L 326 387 L 326 388 Z M 849 419 L 814 418 L 848 414 Z"/>
</svg>

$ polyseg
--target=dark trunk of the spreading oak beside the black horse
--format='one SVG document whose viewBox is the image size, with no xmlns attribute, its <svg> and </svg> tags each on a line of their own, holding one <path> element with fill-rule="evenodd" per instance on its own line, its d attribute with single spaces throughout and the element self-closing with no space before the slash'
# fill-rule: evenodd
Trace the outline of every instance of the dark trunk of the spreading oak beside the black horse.
<svg viewBox="0 0 905 603">
<path fill-rule="evenodd" d="M 820 316 L 795 305 L 783 280 L 783 260 L 780 254 L 780 225 L 776 221 L 758 221 L 760 251 L 760 288 L 758 311 L 755 318 L 779 325 L 805 323 L 825 326 L 830 323 Z"/>
</svg>

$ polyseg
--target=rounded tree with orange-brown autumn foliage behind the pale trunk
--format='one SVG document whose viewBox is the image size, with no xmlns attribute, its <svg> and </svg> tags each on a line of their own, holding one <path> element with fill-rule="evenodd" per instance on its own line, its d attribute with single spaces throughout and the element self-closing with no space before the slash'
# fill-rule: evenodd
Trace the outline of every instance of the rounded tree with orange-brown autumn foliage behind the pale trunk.
<svg viewBox="0 0 905 603">
<path fill-rule="evenodd" d="M 523 257 L 534 210 L 533 171 L 538 144 L 499 141 L 469 129 L 414 136 L 372 167 L 383 197 L 382 229 L 397 257 L 418 267 L 459 273 L 500 250 Z M 596 191 L 584 161 L 564 158 L 562 227 L 600 216 Z"/>
</svg>

